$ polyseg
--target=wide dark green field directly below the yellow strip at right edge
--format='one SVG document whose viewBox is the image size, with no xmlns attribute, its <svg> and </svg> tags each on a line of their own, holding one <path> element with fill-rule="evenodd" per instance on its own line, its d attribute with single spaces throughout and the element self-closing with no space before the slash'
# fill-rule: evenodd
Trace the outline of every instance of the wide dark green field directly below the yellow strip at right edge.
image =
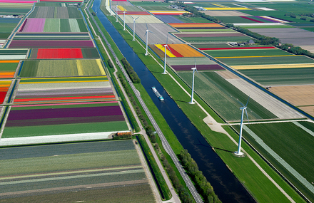
<svg viewBox="0 0 314 203">
<path fill-rule="evenodd" d="M 265 86 L 314 84 L 314 68 L 274 68 L 239 71 Z"/>
</svg>

